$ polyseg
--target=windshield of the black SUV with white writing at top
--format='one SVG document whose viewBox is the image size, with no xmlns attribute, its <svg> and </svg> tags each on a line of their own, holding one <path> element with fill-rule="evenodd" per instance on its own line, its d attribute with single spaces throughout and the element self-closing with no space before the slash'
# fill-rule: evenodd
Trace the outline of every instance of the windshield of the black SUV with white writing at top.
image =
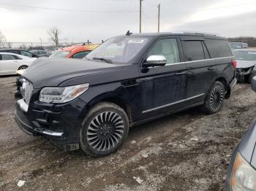
<svg viewBox="0 0 256 191">
<path fill-rule="evenodd" d="M 127 63 L 135 58 L 135 55 L 142 50 L 147 42 L 148 38 L 145 37 L 114 37 L 91 51 L 86 55 L 86 58 L 100 61 L 108 60 L 112 63 Z"/>
</svg>

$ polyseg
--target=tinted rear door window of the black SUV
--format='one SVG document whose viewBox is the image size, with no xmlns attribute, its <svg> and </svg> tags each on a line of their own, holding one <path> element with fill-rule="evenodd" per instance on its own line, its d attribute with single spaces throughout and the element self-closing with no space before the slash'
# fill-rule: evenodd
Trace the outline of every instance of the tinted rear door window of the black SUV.
<svg viewBox="0 0 256 191">
<path fill-rule="evenodd" d="M 202 42 L 184 41 L 182 42 L 186 61 L 198 61 L 205 59 Z"/>
</svg>

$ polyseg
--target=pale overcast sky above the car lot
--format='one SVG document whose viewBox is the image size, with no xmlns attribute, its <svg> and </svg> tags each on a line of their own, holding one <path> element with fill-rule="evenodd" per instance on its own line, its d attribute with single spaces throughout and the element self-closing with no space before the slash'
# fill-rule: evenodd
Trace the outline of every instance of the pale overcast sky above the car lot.
<svg viewBox="0 0 256 191">
<path fill-rule="evenodd" d="M 101 42 L 139 31 L 140 0 L 0 0 L 0 31 L 9 42 Z M 197 31 L 226 37 L 256 36 L 256 0 L 143 0 L 142 32 Z"/>
</svg>

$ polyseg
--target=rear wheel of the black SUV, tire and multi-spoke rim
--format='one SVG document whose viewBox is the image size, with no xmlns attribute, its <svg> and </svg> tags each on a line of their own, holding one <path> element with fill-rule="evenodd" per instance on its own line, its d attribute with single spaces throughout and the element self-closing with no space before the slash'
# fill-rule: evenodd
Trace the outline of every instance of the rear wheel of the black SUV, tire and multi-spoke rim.
<svg viewBox="0 0 256 191">
<path fill-rule="evenodd" d="M 203 112 L 206 112 L 207 114 L 214 114 L 219 112 L 219 110 L 222 109 L 224 99 L 224 85 L 219 81 L 214 82 L 206 95 L 205 103 L 202 106 Z"/>
</svg>

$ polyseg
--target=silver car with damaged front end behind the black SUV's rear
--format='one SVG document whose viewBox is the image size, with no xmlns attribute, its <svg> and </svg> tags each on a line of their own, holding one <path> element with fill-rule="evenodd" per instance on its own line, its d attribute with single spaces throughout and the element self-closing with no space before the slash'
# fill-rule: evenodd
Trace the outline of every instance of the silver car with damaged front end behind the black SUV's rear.
<svg viewBox="0 0 256 191">
<path fill-rule="evenodd" d="M 236 49 L 233 50 L 236 58 L 236 78 L 240 82 L 251 82 L 256 74 L 256 50 Z"/>
</svg>

